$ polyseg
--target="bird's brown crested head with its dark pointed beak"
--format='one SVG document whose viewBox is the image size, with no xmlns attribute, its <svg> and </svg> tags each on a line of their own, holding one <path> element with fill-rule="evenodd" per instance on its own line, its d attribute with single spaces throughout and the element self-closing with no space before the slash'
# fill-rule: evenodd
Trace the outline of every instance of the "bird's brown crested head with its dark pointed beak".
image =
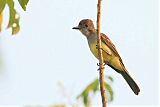
<svg viewBox="0 0 160 107">
<path fill-rule="evenodd" d="M 78 29 L 81 31 L 82 34 L 84 34 L 86 37 L 88 37 L 92 32 L 95 31 L 93 21 L 90 19 L 83 19 L 79 22 L 79 25 L 77 27 L 73 27 L 73 29 Z"/>
</svg>

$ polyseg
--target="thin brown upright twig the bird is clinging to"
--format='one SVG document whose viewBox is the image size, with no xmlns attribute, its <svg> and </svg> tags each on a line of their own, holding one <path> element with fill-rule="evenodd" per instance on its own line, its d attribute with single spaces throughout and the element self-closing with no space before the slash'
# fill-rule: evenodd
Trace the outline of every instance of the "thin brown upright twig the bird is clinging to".
<svg viewBox="0 0 160 107">
<path fill-rule="evenodd" d="M 104 64 L 103 64 L 101 35 L 100 35 L 101 2 L 102 0 L 98 0 L 98 4 L 97 4 L 97 36 L 98 36 L 97 46 L 98 46 L 98 56 L 99 56 L 99 78 L 100 78 L 102 104 L 103 104 L 103 107 L 107 107 L 106 92 L 104 87 Z"/>
</svg>

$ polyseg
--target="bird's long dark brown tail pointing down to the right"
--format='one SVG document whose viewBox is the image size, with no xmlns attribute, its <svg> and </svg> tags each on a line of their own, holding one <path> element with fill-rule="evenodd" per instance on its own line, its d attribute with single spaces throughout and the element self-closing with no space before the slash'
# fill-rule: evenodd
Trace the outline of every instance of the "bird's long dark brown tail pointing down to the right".
<svg viewBox="0 0 160 107">
<path fill-rule="evenodd" d="M 138 95 L 140 92 L 140 89 L 136 82 L 132 79 L 132 77 L 128 74 L 128 72 L 125 70 L 125 72 L 120 72 L 123 76 L 123 78 L 127 81 L 130 88 L 133 90 L 133 92 Z"/>
</svg>

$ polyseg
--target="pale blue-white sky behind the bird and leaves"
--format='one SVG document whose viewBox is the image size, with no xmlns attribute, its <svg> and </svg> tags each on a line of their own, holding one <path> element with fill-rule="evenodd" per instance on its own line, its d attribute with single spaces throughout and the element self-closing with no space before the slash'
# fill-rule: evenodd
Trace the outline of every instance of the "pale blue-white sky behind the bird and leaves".
<svg viewBox="0 0 160 107">
<path fill-rule="evenodd" d="M 135 96 L 121 75 L 114 78 L 110 105 L 158 104 L 158 0 L 103 0 L 101 31 L 116 45 L 141 92 Z M 68 103 L 58 88 L 61 81 L 72 101 L 98 77 L 97 62 L 87 40 L 72 30 L 79 21 L 96 22 L 97 0 L 30 0 L 27 11 L 16 5 L 21 31 L 0 33 L 0 105 Z M 96 23 L 95 23 L 96 24 Z M 93 105 L 101 104 L 100 96 Z"/>
</svg>

